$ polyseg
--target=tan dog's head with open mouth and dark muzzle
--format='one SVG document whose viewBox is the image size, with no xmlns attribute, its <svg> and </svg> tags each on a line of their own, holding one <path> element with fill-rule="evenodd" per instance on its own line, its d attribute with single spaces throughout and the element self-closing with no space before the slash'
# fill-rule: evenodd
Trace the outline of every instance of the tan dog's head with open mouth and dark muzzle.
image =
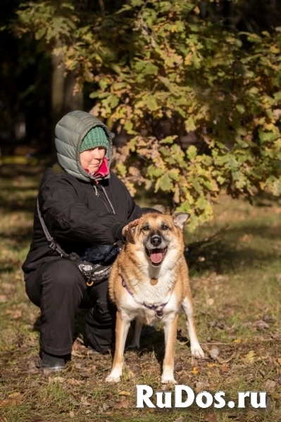
<svg viewBox="0 0 281 422">
<path fill-rule="evenodd" d="M 183 252 L 183 225 L 190 217 L 186 212 L 172 216 L 156 212 L 143 215 L 131 234 L 137 248 L 143 250 L 153 267 L 159 267 L 170 250 Z"/>
</svg>

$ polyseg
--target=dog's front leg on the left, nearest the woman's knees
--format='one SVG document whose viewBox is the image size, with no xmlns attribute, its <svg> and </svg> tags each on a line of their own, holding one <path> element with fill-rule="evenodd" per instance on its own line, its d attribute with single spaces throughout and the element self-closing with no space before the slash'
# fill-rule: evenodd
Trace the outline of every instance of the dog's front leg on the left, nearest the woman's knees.
<svg viewBox="0 0 281 422">
<path fill-rule="evenodd" d="M 121 380 L 125 342 L 129 327 L 130 320 L 122 318 L 120 312 L 117 311 L 115 326 L 115 353 L 111 373 L 106 378 L 107 383 L 118 383 Z"/>
</svg>

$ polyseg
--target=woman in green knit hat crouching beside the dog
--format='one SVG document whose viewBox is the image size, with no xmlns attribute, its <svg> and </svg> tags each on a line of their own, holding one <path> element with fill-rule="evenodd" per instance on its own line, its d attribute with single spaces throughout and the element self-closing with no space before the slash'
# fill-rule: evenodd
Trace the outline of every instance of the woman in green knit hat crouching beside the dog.
<svg viewBox="0 0 281 422">
<path fill-rule="evenodd" d="M 44 172 L 23 264 L 27 295 L 42 313 L 42 368 L 50 371 L 65 369 L 78 308 L 89 308 L 85 328 L 96 352 L 111 347 L 115 309 L 108 302 L 107 279 L 88 287 L 77 260 L 50 248 L 46 230 L 65 255 L 81 256 L 93 245 L 124 241 L 129 224 L 152 211 L 136 205 L 111 172 L 111 133 L 96 117 L 84 111 L 65 115 L 56 125 L 56 150 L 58 165 Z"/>
</svg>

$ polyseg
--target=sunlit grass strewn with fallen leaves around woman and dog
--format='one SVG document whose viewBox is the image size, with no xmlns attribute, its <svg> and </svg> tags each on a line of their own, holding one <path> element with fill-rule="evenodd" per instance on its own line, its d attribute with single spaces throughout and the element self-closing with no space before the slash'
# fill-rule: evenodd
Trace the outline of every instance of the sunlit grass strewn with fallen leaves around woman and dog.
<svg viewBox="0 0 281 422">
<path fill-rule="evenodd" d="M 67 371 L 50 375 L 39 369 L 39 309 L 25 295 L 20 266 L 30 245 L 42 168 L 0 171 L 1 422 L 281 421 L 280 200 L 263 196 L 252 206 L 222 195 L 213 222 L 186 234 L 193 244 L 187 260 L 206 359 L 191 357 L 181 314 L 175 361 L 177 382 L 194 392 L 223 390 L 237 403 L 239 390 L 267 391 L 268 408 L 136 409 L 136 384 L 163 388 L 161 324 L 142 336 L 141 350 L 125 353 L 122 383 L 104 383 L 112 358 L 85 348 L 83 312 Z M 214 352 L 217 359 L 210 356 Z"/>
</svg>

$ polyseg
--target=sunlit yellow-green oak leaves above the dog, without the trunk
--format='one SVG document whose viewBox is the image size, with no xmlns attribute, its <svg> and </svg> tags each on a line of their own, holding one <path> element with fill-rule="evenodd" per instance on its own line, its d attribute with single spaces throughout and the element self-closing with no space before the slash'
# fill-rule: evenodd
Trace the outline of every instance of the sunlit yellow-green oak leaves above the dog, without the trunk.
<svg viewBox="0 0 281 422">
<path fill-rule="evenodd" d="M 130 9 L 124 21 L 125 14 L 115 14 L 110 32 L 99 32 L 100 16 L 93 15 L 91 25 L 79 27 L 77 21 L 73 42 L 59 53 L 67 68 L 77 69 L 81 84 L 92 84 L 91 113 L 111 117 L 134 136 L 115 155 L 130 191 L 139 177 L 173 194 L 177 209 L 192 212 L 189 228 L 195 228 L 212 218 L 209 196 L 221 188 L 233 196 L 254 186 L 280 192 L 280 183 L 270 178 L 281 148 L 280 46 L 275 34 L 264 32 L 245 34 L 251 51 L 241 49 L 237 34 L 202 21 L 192 2 L 171 4 L 134 0 L 123 8 Z M 69 28 L 63 31 L 67 37 Z M 169 133 L 157 130 L 163 121 Z M 132 151 L 142 157 L 139 167 L 128 163 Z"/>
</svg>

